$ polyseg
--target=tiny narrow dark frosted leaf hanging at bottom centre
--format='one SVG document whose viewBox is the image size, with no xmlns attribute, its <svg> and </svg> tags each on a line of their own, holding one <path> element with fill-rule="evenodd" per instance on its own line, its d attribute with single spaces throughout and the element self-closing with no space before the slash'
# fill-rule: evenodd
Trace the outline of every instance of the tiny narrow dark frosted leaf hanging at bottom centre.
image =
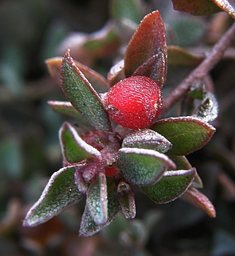
<svg viewBox="0 0 235 256">
<path fill-rule="evenodd" d="M 134 218 L 136 214 L 134 194 L 131 186 L 125 181 L 118 183 L 118 201 L 125 218 Z"/>
</svg>

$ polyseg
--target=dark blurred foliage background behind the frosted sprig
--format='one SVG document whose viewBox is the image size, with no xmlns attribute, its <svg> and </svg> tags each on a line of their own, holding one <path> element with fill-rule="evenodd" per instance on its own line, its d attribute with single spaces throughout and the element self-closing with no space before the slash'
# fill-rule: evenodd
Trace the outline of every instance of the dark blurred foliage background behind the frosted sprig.
<svg viewBox="0 0 235 256">
<path fill-rule="evenodd" d="M 168 45 L 184 47 L 198 59 L 233 23 L 222 12 L 196 17 L 173 11 L 169 0 L 0 2 L 0 255 L 235 254 L 234 44 L 209 77 L 220 103 L 213 122 L 217 133 L 205 148 L 189 155 L 217 218 L 179 199 L 156 205 L 137 190 L 137 218 L 126 221 L 120 214 L 90 238 L 78 238 L 84 202 L 45 224 L 22 227 L 48 178 L 62 167 L 58 129 L 66 118 L 46 102 L 65 98 L 44 60 L 71 48 L 73 58 L 106 74 L 123 57 L 141 18 L 152 10 L 161 12 Z M 169 66 L 164 93 L 194 67 Z"/>
</svg>

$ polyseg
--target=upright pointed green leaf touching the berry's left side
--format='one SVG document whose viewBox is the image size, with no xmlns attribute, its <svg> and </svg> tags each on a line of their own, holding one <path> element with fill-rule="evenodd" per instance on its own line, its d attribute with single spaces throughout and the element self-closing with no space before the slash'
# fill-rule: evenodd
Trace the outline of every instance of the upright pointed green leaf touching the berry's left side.
<svg viewBox="0 0 235 256">
<path fill-rule="evenodd" d="M 96 129 L 110 131 L 110 119 L 98 94 L 75 66 L 67 50 L 62 61 L 62 89 L 71 102 Z"/>
</svg>

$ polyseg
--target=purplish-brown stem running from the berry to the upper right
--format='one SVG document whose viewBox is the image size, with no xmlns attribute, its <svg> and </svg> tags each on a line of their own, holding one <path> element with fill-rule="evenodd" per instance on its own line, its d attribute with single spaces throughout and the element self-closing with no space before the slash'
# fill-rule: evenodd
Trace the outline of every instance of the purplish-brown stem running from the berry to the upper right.
<svg viewBox="0 0 235 256">
<path fill-rule="evenodd" d="M 184 94 L 187 93 L 193 82 L 205 78 L 213 66 L 219 62 L 226 48 L 230 46 L 235 38 L 235 23 L 229 28 L 219 42 L 217 42 L 211 53 L 197 68 L 195 68 L 187 78 L 185 78 L 175 90 L 173 90 L 165 99 L 161 115 L 165 114 Z"/>
</svg>

